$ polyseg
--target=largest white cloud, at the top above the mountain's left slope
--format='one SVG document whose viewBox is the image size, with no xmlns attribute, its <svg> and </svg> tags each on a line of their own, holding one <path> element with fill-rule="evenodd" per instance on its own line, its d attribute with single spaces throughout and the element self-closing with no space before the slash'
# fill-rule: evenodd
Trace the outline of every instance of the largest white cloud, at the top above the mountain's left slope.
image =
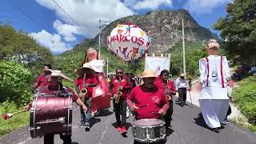
<svg viewBox="0 0 256 144">
<path fill-rule="evenodd" d="M 72 35 L 77 33 L 74 32 L 75 30 L 73 31 L 74 26 L 72 25 L 74 25 L 74 23 L 70 20 L 70 18 L 68 18 L 67 15 L 64 14 L 63 11 L 53 1 L 37 0 L 37 2 L 40 5 L 49 8 L 50 10 L 54 10 L 58 19 L 61 19 L 63 22 L 66 22 L 68 25 L 70 25 L 68 26 L 70 27 L 70 31 L 65 32 L 65 34 L 64 30 L 60 30 L 60 27 L 64 29 L 64 26 L 59 25 L 59 30 L 57 30 L 58 33 L 62 34 L 66 40 L 74 40 Z M 70 17 L 73 18 L 74 21 L 77 22 L 78 25 L 86 31 L 86 36 L 89 37 L 94 37 L 96 34 L 98 34 L 97 26 L 99 19 L 113 21 L 117 18 L 122 18 L 127 15 L 134 14 L 132 10 L 128 9 L 119 0 L 55 0 L 55 2 L 57 2 L 58 5 L 61 6 L 62 9 L 65 10 L 66 13 L 69 14 Z"/>
</svg>

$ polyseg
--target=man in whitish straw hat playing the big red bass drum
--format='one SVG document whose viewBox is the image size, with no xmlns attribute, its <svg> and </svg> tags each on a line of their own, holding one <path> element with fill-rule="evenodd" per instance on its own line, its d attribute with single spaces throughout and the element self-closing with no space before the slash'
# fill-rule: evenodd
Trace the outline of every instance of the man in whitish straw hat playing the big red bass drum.
<svg viewBox="0 0 256 144">
<path fill-rule="evenodd" d="M 82 106 L 84 112 L 87 111 L 86 105 L 82 102 L 82 100 L 74 94 L 74 91 L 71 90 L 69 87 L 63 87 L 60 78 L 66 78 L 71 80 L 70 78 L 66 77 L 64 74 L 61 73 L 60 70 L 50 70 L 50 86 L 44 86 L 40 92 L 46 94 L 55 94 L 56 91 L 61 90 L 63 93 L 72 93 L 73 102 L 76 102 L 79 106 Z M 24 107 L 24 110 L 30 110 L 32 102 L 29 105 Z M 60 138 L 62 139 L 64 144 L 71 144 L 71 134 L 59 134 Z M 44 143 L 45 144 L 54 144 L 54 134 L 46 134 L 44 135 Z"/>
</svg>

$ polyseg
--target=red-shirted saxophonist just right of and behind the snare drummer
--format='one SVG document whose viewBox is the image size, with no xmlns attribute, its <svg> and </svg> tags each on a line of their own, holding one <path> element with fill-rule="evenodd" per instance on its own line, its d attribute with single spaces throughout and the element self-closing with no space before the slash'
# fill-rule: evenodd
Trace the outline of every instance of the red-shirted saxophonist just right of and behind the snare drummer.
<svg viewBox="0 0 256 144">
<path fill-rule="evenodd" d="M 165 95 L 168 95 L 168 101 L 170 104 L 169 109 L 166 112 L 165 122 L 166 122 L 166 130 L 169 126 L 171 126 L 171 116 L 174 110 L 174 102 L 173 102 L 173 95 L 176 94 L 176 90 L 174 89 L 174 82 L 169 78 L 169 71 L 162 70 L 158 78 L 156 78 L 154 84 L 158 86 L 159 89 L 164 90 Z M 166 97 L 167 98 L 167 97 Z"/>
</svg>

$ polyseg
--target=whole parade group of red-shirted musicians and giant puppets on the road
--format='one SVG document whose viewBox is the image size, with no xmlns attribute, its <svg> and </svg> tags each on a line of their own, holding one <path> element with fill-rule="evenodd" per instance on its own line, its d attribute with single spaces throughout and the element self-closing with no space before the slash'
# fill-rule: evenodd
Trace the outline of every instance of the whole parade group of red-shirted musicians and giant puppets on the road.
<svg viewBox="0 0 256 144">
<path fill-rule="evenodd" d="M 211 39 L 206 45 L 209 56 L 199 61 L 201 87 L 199 103 L 202 110 L 200 115 L 206 125 L 216 133 L 219 132 L 220 123 L 230 111 L 226 86 L 233 86 L 226 57 L 218 56 L 218 49 L 218 42 Z M 156 75 L 154 70 L 144 70 L 142 76 L 136 77 L 131 73 L 124 74 L 122 68 L 117 68 L 114 75 L 105 78 L 102 74 L 102 64 L 95 65 L 95 62 L 99 61 L 94 59 L 96 57 L 96 50 L 87 50 L 85 61 L 82 67 L 78 68 L 78 78 L 74 82 L 77 94 L 69 87 L 62 86 L 60 79 L 65 77 L 58 70 L 50 70 L 50 65 L 43 66 L 44 73 L 38 78 L 33 90 L 43 93 L 56 93 L 56 90 L 72 93 L 73 101 L 81 106 L 80 127 L 84 127 L 86 131 L 90 131 L 91 115 L 97 111 L 92 108 L 92 99 L 97 95 L 98 85 L 103 89 L 101 94 L 111 96 L 113 99 L 116 130 L 121 134 L 127 133 L 127 110 L 132 111 L 134 120 L 158 118 L 165 122 L 166 130 L 171 128 L 173 96 L 178 93 L 179 105 L 185 106 L 186 92 L 191 90 L 192 86 L 191 78 L 186 80 L 186 75 L 180 74 L 174 81 L 170 78 L 169 70 L 162 70 L 160 75 Z M 25 107 L 26 110 L 30 108 L 31 103 Z M 54 143 L 54 134 L 46 134 L 44 138 L 45 143 Z M 64 143 L 71 142 L 70 134 L 61 135 L 61 138 Z"/>
</svg>

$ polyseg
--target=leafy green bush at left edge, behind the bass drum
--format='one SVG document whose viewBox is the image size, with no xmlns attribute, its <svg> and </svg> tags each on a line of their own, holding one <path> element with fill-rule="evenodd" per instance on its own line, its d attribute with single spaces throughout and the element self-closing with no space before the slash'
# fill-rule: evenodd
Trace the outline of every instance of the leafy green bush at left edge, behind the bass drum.
<svg viewBox="0 0 256 144">
<path fill-rule="evenodd" d="M 32 100 L 30 87 L 32 75 L 22 64 L 13 61 L 0 61 L 0 102 L 14 102 L 25 106 Z"/>
</svg>

